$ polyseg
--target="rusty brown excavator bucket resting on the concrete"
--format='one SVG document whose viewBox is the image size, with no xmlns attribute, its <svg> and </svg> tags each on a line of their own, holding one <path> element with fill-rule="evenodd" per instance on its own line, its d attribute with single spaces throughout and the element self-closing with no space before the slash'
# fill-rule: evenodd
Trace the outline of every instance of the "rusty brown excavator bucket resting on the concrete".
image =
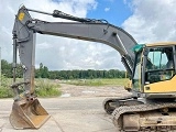
<svg viewBox="0 0 176 132">
<path fill-rule="evenodd" d="M 50 118 L 37 99 L 14 101 L 10 114 L 10 123 L 14 129 L 38 129 Z"/>
</svg>

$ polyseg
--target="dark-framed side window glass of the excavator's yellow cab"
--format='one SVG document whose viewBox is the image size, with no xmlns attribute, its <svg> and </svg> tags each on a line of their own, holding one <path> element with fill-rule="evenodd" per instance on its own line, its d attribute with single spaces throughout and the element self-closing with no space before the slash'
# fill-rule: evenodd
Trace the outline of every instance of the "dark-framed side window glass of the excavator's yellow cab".
<svg viewBox="0 0 176 132">
<path fill-rule="evenodd" d="M 145 84 L 168 80 L 174 76 L 174 54 L 170 47 L 150 47 L 145 65 Z"/>
</svg>

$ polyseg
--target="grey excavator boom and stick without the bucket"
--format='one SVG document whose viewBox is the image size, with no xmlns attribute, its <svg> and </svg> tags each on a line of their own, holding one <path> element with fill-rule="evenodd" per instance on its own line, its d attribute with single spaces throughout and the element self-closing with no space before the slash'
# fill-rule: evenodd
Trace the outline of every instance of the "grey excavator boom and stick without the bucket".
<svg viewBox="0 0 176 132">
<path fill-rule="evenodd" d="M 29 11 L 34 10 L 26 9 L 25 7 L 22 7 L 19 10 L 13 29 L 13 36 L 15 36 L 18 43 L 14 45 L 19 46 L 21 63 L 23 64 L 23 67 L 26 68 L 24 70 L 24 77 L 33 77 L 33 69 L 31 68 L 34 67 L 35 62 L 35 33 L 107 44 L 120 53 L 124 67 L 129 75 L 132 75 L 134 62 L 132 47 L 136 42 L 124 30 L 98 20 L 75 18 L 56 10 L 52 14 L 53 16 L 78 22 L 45 22 L 32 19 Z M 26 79 L 31 80 L 30 78 Z"/>
</svg>

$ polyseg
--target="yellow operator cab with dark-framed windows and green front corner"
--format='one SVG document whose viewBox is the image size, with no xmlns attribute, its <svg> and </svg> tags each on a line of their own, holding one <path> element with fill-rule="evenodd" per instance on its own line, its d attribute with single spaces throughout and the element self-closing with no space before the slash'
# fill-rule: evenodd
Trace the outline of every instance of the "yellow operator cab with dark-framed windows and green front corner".
<svg viewBox="0 0 176 132">
<path fill-rule="evenodd" d="M 134 91 L 167 92 L 167 80 L 172 80 L 175 76 L 175 48 L 173 43 L 138 45 L 133 48 L 135 53 L 132 79 Z M 163 87 L 160 86 L 161 84 Z M 158 87 L 162 88 L 158 89 Z M 168 91 L 175 90 L 169 86 Z"/>
</svg>

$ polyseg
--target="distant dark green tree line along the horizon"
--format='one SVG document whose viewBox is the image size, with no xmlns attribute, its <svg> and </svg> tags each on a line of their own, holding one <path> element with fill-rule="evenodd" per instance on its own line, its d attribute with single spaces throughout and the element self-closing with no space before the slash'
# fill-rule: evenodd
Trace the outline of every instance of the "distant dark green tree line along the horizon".
<svg viewBox="0 0 176 132">
<path fill-rule="evenodd" d="M 1 59 L 1 74 L 12 78 L 12 64 Z M 20 64 L 16 65 L 16 77 L 22 78 L 23 72 Z M 35 69 L 35 78 L 50 79 L 94 79 L 94 78 L 125 78 L 125 72 L 119 69 L 95 70 L 95 69 L 74 69 L 74 70 L 50 70 L 42 63 L 40 68 Z"/>
</svg>

